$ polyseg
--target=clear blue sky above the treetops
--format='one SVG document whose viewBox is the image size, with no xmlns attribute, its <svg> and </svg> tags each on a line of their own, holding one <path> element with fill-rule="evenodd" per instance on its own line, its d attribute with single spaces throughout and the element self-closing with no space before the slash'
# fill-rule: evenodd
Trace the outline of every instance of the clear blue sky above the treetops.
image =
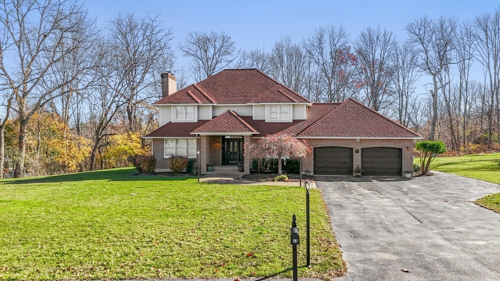
<svg viewBox="0 0 500 281">
<path fill-rule="evenodd" d="M 87 0 L 84 6 L 99 25 L 115 14 L 146 11 L 160 14 L 165 27 L 174 31 L 175 42 L 187 31 L 224 31 L 238 48 L 270 48 L 281 35 L 297 42 L 315 27 L 343 23 L 354 38 L 368 25 L 380 25 L 405 37 L 403 27 L 413 18 L 454 15 L 472 19 L 493 11 L 500 0 L 474 1 L 167 1 Z"/>
</svg>

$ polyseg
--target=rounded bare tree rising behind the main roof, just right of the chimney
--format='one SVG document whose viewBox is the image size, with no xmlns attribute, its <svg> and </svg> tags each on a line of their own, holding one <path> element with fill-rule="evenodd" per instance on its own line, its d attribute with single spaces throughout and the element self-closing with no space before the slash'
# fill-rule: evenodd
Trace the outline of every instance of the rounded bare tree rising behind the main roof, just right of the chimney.
<svg viewBox="0 0 500 281">
<path fill-rule="evenodd" d="M 196 82 L 224 69 L 238 57 L 234 41 L 223 31 L 190 31 L 179 49 L 189 58 L 187 64 Z"/>
</svg>

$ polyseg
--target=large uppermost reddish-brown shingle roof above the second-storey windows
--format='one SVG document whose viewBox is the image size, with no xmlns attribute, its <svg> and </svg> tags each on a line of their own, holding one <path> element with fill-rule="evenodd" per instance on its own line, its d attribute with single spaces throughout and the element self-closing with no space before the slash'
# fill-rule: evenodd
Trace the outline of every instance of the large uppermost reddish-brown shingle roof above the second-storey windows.
<svg viewBox="0 0 500 281">
<path fill-rule="evenodd" d="M 310 102 L 258 69 L 225 69 L 153 104 Z"/>
</svg>

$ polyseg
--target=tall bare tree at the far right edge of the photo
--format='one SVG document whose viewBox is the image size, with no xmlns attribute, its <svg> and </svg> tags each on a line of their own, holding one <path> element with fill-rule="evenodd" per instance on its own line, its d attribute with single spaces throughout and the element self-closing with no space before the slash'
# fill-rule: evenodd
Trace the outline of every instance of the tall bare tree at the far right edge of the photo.
<svg viewBox="0 0 500 281">
<path fill-rule="evenodd" d="M 500 9 L 496 8 L 493 14 L 476 16 L 473 25 L 475 57 L 482 64 L 489 83 L 488 134 L 491 143 L 494 111 L 500 135 Z"/>
</svg>

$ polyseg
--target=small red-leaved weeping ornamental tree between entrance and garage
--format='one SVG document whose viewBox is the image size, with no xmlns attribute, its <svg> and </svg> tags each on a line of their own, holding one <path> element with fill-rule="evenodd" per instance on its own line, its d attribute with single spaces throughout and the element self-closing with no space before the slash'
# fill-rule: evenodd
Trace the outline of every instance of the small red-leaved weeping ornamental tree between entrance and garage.
<svg viewBox="0 0 500 281">
<path fill-rule="evenodd" d="M 250 159 L 255 158 L 277 158 L 284 159 L 298 158 L 300 155 L 306 156 L 311 152 L 312 147 L 306 140 L 299 140 L 291 134 L 276 133 L 268 134 L 256 143 L 245 145 L 245 156 Z M 281 174 L 281 161 L 278 160 L 278 174 Z"/>
</svg>

